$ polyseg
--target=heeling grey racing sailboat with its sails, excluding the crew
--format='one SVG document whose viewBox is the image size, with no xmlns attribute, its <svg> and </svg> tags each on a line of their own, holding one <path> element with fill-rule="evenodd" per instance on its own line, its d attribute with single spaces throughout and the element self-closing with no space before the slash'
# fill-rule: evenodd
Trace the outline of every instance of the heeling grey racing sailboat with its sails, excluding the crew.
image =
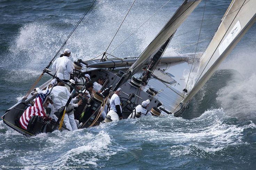
<svg viewBox="0 0 256 170">
<path fill-rule="evenodd" d="M 86 85 L 85 74 L 90 75 L 92 82 L 95 82 L 99 77 L 105 79 L 101 89 L 105 90 L 105 93 L 96 92 L 89 101 L 84 100 L 82 106 L 75 110 L 75 114 L 83 115 L 82 118 L 79 118 L 79 121 L 82 122 L 81 128 L 108 122 L 101 118 L 102 108 L 107 104 L 107 99 L 118 88 L 122 89 L 120 100 L 123 118 L 127 118 L 131 113 L 136 115 L 136 105 L 147 99 L 150 100 L 148 111 L 153 116 L 173 114 L 178 117 L 182 114 L 192 97 L 213 75 L 256 19 L 256 9 L 254 8 L 256 1 L 233 0 L 230 3 L 221 24 L 200 58 L 197 76 L 193 77 L 193 87 L 189 89 L 187 82 L 190 76 L 184 79 L 183 71 L 185 69 L 191 71 L 192 68 L 195 68 L 193 65 L 195 57 L 163 57 L 163 54 L 178 27 L 200 2 L 201 0 L 185 0 L 138 58 L 109 58 L 111 55 L 104 52 L 99 59 L 88 61 L 79 59 L 74 62 L 73 77 L 79 79 L 80 83 L 76 83 L 74 79 L 70 80 L 71 85 L 63 82 L 73 89 L 71 98 L 74 97 L 75 92 L 82 93 L 81 90 L 75 88 L 75 85 Z M 65 43 L 60 50 L 64 45 Z M 55 73 L 49 69 L 57 55 L 58 53 L 23 99 L 9 108 L 2 116 L 6 125 L 25 136 L 66 129 L 65 126 L 59 125 L 61 117 L 65 114 L 64 110 L 56 122 L 45 121 L 40 116 L 34 116 L 30 119 L 27 129 L 22 129 L 17 121 L 29 107 L 31 100 L 37 96 L 33 90 L 44 74 L 59 80 Z M 51 80 L 49 79 L 39 88 L 46 89 L 51 84 Z M 111 118 L 109 120 L 111 121 Z"/>
</svg>

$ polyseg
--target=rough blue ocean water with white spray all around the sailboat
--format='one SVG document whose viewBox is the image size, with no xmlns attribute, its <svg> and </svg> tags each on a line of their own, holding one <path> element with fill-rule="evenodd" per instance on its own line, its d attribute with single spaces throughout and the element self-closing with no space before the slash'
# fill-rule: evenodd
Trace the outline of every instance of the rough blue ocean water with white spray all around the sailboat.
<svg viewBox="0 0 256 170">
<path fill-rule="evenodd" d="M 230 1 L 206 1 L 196 52 L 205 50 Z M 29 90 L 91 2 L 0 1 L 0 116 Z M 138 56 L 183 1 L 169 1 L 150 18 L 166 2 L 136 1 L 107 52 Z M 198 40 L 204 2 L 177 30 L 168 53 L 195 52 L 190 44 Z M 72 60 L 102 54 L 131 3 L 96 0 L 66 43 Z M 31 138 L 0 120 L 0 169 L 255 169 L 255 30 L 253 25 L 179 118 L 122 120 Z"/>
</svg>

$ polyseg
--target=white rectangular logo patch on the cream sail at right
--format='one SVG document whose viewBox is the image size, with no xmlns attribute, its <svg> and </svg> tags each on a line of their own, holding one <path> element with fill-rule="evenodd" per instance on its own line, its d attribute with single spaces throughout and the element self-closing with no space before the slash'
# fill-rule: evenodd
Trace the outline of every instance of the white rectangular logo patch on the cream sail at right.
<svg viewBox="0 0 256 170">
<path fill-rule="evenodd" d="M 219 45 L 219 56 L 226 50 L 226 48 L 231 44 L 231 42 L 235 39 L 235 37 L 238 35 L 239 31 L 241 30 L 241 24 L 239 20 L 232 28 L 231 32 L 226 36 L 224 41 Z"/>
</svg>

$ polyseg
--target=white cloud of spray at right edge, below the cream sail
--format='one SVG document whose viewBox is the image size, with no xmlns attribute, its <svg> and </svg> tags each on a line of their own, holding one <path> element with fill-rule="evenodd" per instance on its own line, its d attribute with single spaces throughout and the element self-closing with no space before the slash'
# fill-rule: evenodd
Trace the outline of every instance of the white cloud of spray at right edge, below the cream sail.
<svg viewBox="0 0 256 170">
<path fill-rule="evenodd" d="M 234 71 L 232 79 L 218 91 L 216 100 L 223 105 L 228 115 L 251 120 L 256 119 L 256 58 L 252 58 L 250 52 L 241 54 L 242 52 L 243 49 L 235 53 L 233 58 L 221 67 L 235 69 L 238 72 Z"/>
</svg>

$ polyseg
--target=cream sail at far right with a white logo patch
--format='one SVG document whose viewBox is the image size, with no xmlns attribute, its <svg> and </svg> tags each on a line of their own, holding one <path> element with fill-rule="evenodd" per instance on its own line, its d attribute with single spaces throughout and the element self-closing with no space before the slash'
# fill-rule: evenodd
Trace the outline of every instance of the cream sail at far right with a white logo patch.
<svg viewBox="0 0 256 170">
<path fill-rule="evenodd" d="M 256 20 L 256 0 L 233 0 L 203 54 L 195 85 L 182 101 L 189 102 Z"/>
</svg>

